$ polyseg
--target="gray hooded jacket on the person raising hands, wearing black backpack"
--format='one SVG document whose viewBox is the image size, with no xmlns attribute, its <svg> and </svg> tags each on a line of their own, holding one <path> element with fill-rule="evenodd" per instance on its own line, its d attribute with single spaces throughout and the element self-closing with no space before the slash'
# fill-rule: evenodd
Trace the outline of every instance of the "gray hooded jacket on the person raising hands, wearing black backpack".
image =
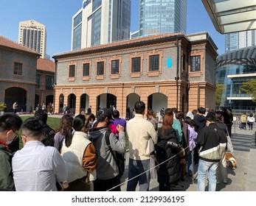
<svg viewBox="0 0 256 206">
<path fill-rule="evenodd" d="M 97 179 L 109 180 L 119 174 L 117 163 L 105 142 L 106 127 L 89 130 L 89 140 L 94 144 L 97 157 Z M 119 132 L 119 139 L 111 132 L 109 135 L 111 149 L 120 154 L 125 153 L 125 132 Z"/>
</svg>

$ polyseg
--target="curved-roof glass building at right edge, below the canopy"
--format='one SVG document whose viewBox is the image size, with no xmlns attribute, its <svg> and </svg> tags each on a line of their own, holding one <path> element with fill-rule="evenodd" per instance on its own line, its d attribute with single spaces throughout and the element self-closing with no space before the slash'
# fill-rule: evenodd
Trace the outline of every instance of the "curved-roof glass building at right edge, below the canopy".
<svg viewBox="0 0 256 206">
<path fill-rule="evenodd" d="M 224 85 L 221 107 L 255 110 L 252 97 L 241 90 L 243 82 L 256 77 L 256 47 L 249 46 L 217 57 L 216 83 Z"/>
</svg>

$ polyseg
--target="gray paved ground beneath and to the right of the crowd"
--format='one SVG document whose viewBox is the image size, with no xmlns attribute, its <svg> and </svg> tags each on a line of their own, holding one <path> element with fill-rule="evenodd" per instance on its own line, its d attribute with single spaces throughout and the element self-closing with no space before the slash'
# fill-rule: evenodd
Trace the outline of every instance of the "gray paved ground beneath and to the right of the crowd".
<svg viewBox="0 0 256 206">
<path fill-rule="evenodd" d="M 216 191 L 256 191 L 256 143 L 255 143 L 255 128 L 254 130 L 239 129 L 237 125 L 232 127 L 232 143 L 234 146 L 234 156 L 238 162 L 238 168 L 232 170 L 228 168 L 228 183 L 221 182 L 217 185 Z M 128 160 L 128 154 L 127 158 Z M 126 161 L 128 164 L 128 161 Z M 126 165 L 125 174 L 121 178 L 121 190 L 126 190 L 127 185 L 127 169 Z M 197 171 L 197 166 L 195 166 Z M 184 185 L 184 190 L 181 191 L 196 191 L 197 179 L 194 182 L 185 180 L 180 182 Z M 136 188 L 138 191 L 138 187 Z M 151 180 L 150 191 L 159 191 L 159 184 L 156 180 Z"/>
</svg>

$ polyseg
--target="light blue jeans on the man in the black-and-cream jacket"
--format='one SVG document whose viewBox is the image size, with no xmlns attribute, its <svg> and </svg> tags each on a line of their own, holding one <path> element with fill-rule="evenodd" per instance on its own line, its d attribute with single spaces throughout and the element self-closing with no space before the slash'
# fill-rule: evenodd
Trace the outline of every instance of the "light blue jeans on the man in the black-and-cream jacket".
<svg viewBox="0 0 256 206">
<path fill-rule="evenodd" d="M 216 170 L 219 162 L 208 162 L 199 159 L 198 191 L 205 191 L 205 178 L 208 171 L 209 191 L 216 191 Z"/>
</svg>

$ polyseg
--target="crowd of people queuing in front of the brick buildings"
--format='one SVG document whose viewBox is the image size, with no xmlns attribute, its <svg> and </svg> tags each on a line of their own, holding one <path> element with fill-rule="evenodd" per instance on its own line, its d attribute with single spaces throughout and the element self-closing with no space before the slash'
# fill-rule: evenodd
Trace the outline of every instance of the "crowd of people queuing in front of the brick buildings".
<svg viewBox="0 0 256 206">
<path fill-rule="evenodd" d="M 163 111 L 162 111 L 163 110 Z M 198 107 L 185 114 L 162 108 L 162 127 L 145 103 L 134 104 L 134 115 L 120 118 L 113 106 L 97 111 L 91 107 L 73 117 L 63 113 L 58 128 L 47 124 L 47 112 L 22 121 L 15 113 L 0 116 L 1 191 L 121 191 L 120 166 L 128 136 L 127 191 L 148 191 L 151 179 L 159 191 L 184 188 L 198 166 L 198 191 L 227 183 L 224 154 L 231 137 L 232 110 Z M 128 111 L 127 111 L 128 113 Z M 145 117 L 146 115 L 146 117 Z M 246 121 L 251 122 L 250 116 Z M 255 122 L 255 119 L 252 120 Z M 241 117 L 241 124 L 243 124 Z M 251 127 L 249 127 L 251 128 Z M 243 124 L 244 129 L 244 124 Z M 21 131 L 22 149 L 17 148 Z"/>
</svg>

